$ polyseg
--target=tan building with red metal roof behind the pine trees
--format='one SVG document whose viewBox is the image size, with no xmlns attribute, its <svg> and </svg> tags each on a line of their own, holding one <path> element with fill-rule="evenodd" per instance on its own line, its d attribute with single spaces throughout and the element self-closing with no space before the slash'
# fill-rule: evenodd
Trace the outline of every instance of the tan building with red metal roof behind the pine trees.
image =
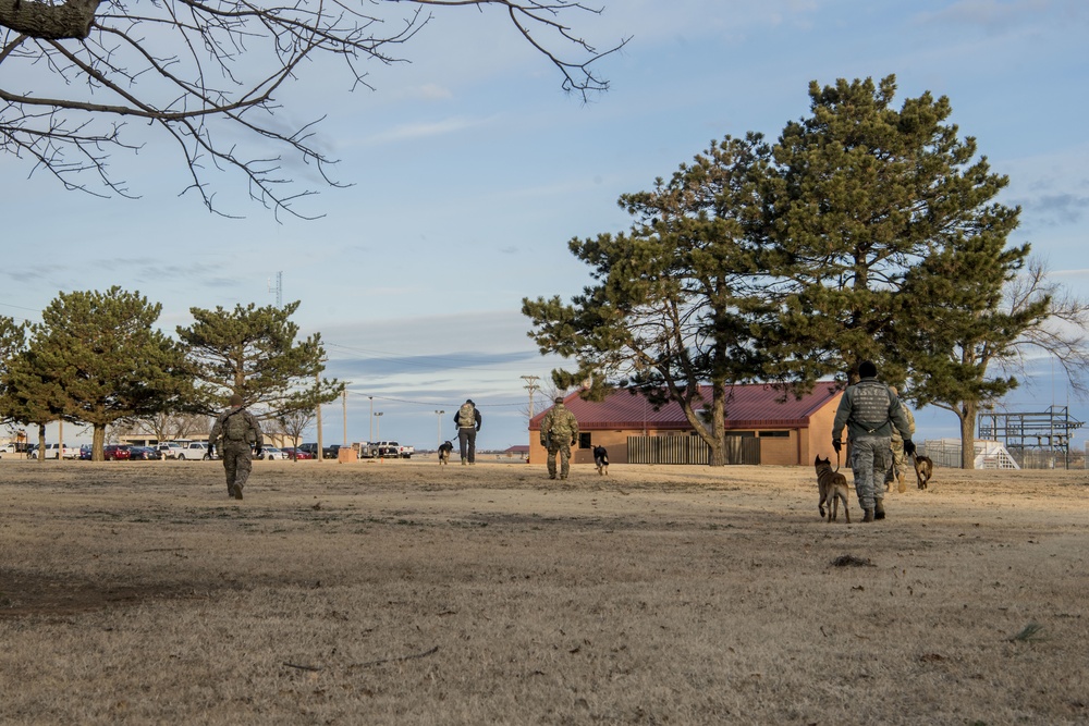
<svg viewBox="0 0 1089 726">
<path fill-rule="evenodd" d="M 703 399 L 710 403 L 711 389 L 702 386 Z M 795 398 L 764 384 L 731 386 L 726 402 L 726 436 L 741 441 L 750 459 L 771 466 L 811 466 L 813 457 L 833 456 L 832 422 L 843 391 L 831 381 L 820 381 L 813 390 Z M 654 410 L 640 393 L 619 390 L 604 401 L 583 401 L 577 393 L 568 395 L 564 405 L 578 419 L 578 450 L 572 452 L 576 464 L 590 464 L 590 450 L 602 445 L 609 450 L 612 464 L 625 464 L 629 452 L 641 451 L 648 438 L 693 436 L 695 448 L 706 444 L 696 436 L 684 417 L 681 405 L 671 402 Z M 543 464 L 547 452 L 540 445 L 541 419 L 548 409 L 529 422 L 529 463 Z M 749 440 L 752 441 L 744 441 Z M 846 450 L 844 450 L 846 451 Z M 634 454 L 633 454 L 634 455 Z M 697 463 L 697 462 L 694 462 Z"/>
</svg>

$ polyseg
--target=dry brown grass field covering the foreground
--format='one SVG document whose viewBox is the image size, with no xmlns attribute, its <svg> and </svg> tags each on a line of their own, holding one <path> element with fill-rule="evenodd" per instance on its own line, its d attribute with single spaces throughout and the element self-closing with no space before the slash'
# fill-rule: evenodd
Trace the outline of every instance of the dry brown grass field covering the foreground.
<svg viewBox="0 0 1089 726">
<path fill-rule="evenodd" d="M 5 459 L 0 722 L 1084 724 L 1087 482 Z"/>
</svg>

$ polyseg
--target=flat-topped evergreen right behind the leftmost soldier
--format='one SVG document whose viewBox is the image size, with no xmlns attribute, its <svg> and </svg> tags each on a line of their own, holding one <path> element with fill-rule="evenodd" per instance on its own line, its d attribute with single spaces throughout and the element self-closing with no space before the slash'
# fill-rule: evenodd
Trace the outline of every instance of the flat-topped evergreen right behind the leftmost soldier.
<svg viewBox="0 0 1089 726">
<path fill-rule="evenodd" d="M 195 322 L 178 328 L 197 381 L 187 407 L 216 416 L 236 393 L 261 418 L 274 420 L 335 401 L 344 385 L 335 379 L 318 380 L 326 356 L 321 335 L 295 340 L 298 325 L 291 316 L 297 308 L 297 300 L 282 308 L 189 308 Z"/>
</svg>

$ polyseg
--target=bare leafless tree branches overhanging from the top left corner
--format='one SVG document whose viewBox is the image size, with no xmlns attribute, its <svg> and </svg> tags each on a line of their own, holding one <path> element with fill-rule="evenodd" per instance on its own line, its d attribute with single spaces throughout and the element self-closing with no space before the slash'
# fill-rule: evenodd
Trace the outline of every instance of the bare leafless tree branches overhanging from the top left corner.
<svg viewBox="0 0 1089 726">
<path fill-rule="evenodd" d="M 293 204 L 315 192 L 295 188 L 280 153 L 250 158 L 221 139 L 241 130 L 341 186 L 328 174 L 334 160 L 314 136 L 323 116 L 284 130 L 276 121 L 277 94 L 304 63 L 328 57 L 343 62 L 346 90 L 372 89 L 367 64 L 405 62 L 397 49 L 432 21 L 428 5 L 499 7 L 560 70 L 563 88 L 584 100 L 608 88 L 591 64 L 627 42 L 599 52 L 575 35 L 562 17 L 601 11 L 574 0 L 148 0 L 138 8 L 122 0 L 0 0 L 0 152 L 28 159 L 32 174 L 44 170 L 68 189 L 130 197 L 109 161 L 144 148 L 127 140 L 136 134 L 124 121 L 143 119 L 179 146 L 191 177 L 184 192 L 210 211 L 222 213 L 208 182 L 217 169 L 240 174 L 249 196 L 277 216 L 306 218 Z M 552 40 L 539 40 L 535 29 Z M 582 58 L 566 59 L 556 45 Z"/>
</svg>

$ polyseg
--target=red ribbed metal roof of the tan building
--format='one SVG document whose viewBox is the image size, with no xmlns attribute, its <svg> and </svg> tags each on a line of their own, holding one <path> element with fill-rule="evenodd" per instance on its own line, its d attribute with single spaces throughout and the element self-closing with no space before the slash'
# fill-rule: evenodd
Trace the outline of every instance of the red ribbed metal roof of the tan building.
<svg viewBox="0 0 1089 726">
<path fill-rule="evenodd" d="M 819 381 L 813 390 L 800 398 L 786 394 L 771 385 L 750 383 L 733 385 L 727 390 L 726 428 L 727 429 L 770 429 L 799 428 L 809 424 L 809 417 L 840 395 L 840 389 L 832 381 Z M 710 404 L 711 387 L 700 386 L 703 399 Z M 670 402 L 659 410 L 647 403 L 643 394 L 633 394 L 628 389 L 612 391 L 604 401 L 583 401 L 577 393 L 568 395 L 564 405 L 578 419 L 578 428 L 583 431 L 602 429 L 678 429 L 688 430 L 692 426 L 681 410 L 681 404 Z M 541 411 L 529 422 L 530 431 L 539 431 Z"/>
</svg>

